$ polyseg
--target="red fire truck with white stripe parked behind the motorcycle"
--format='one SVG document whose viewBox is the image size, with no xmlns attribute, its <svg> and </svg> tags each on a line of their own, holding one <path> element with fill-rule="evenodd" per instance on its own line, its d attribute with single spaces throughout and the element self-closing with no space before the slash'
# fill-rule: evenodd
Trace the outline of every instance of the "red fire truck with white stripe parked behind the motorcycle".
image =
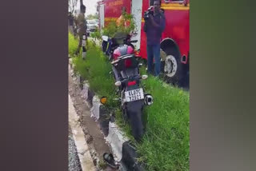
<svg viewBox="0 0 256 171">
<path fill-rule="evenodd" d="M 116 21 L 122 6 L 126 6 L 126 12 L 134 15 L 137 26 L 137 35 L 132 38 L 138 40 L 135 49 L 146 59 L 143 15 L 153 4 L 154 0 L 102 0 L 98 2 L 100 27 Z M 161 8 L 166 15 L 166 29 L 161 40 L 162 72 L 170 82 L 181 83 L 189 78 L 190 0 L 162 0 Z"/>
</svg>

